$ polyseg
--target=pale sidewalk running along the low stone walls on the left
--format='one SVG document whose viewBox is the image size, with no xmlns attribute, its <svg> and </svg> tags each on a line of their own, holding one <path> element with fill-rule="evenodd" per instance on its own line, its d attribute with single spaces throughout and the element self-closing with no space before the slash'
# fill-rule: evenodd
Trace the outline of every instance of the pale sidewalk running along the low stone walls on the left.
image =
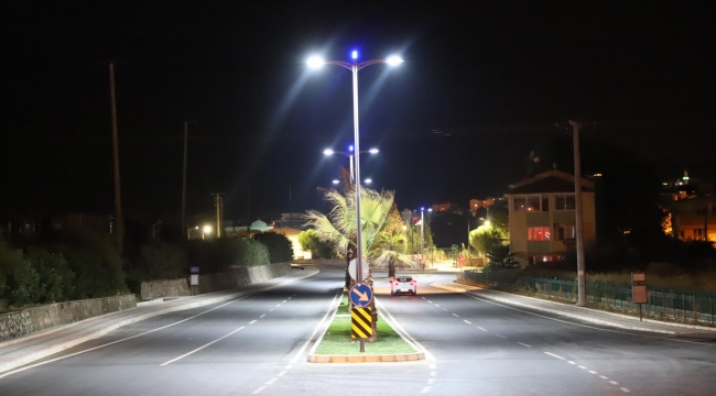
<svg viewBox="0 0 716 396">
<path fill-rule="evenodd" d="M 318 272 L 317 268 L 305 268 L 291 275 L 247 286 L 241 289 L 207 293 L 192 297 L 176 297 L 164 302 L 143 305 L 137 308 L 89 318 L 72 324 L 58 326 L 28 337 L 0 342 L 0 373 L 99 338 L 122 326 L 169 312 L 248 297 L 259 292 L 289 285 L 313 276 Z"/>
</svg>

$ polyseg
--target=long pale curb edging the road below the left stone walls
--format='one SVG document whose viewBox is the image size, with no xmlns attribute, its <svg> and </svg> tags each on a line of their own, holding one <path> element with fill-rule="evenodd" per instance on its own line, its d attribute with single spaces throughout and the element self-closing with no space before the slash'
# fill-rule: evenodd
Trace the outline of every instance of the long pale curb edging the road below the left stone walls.
<svg viewBox="0 0 716 396">
<path fill-rule="evenodd" d="M 73 339 L 73 340 L 69 340 L 69 341 L 66 341 L 66 342 L 62 342 L 62 343 L 58 343 L 58 344 L 54 344 L 54 345 L 41 349 L 40 351 L 29 353 L 29 354 L 26 354 L 26 355 L 24 355 L 24 356 L 22 356 L 20 359 L 15 359 L 15 360 L 10 361 L 10 362 L 3 362 L 2 364 L 0 364 L 0 373 L 4 373 L 7 371 L 10 371 L 10 370 L 17 369 L 19 366 L 32 363 L 34 361 L 37 361 L 40 359 L 50 356 L 50 355 L 58 353 L 58 352 L 62 352 L 62 351 L 64 351 L 66 349 L 76 346 L 76 345 L 78 345 L 78 344 L 80 344 L 83 342 L 94 340 L 96 338 L 105 336 L 108 332 L 110 332 L 112 330 L 116 330 L 116 329 L 118 329 L 120 327 L 127 326 L 127 324 L 135 323 L 135 322 L 142 321 L 142 320 L 145 320 L 145 319 L 150 319 L 150 318 L 153 318 L 153 317 L 156 317 L 156 316 L 160 316 L 160 315 L 164 315 L 164 314 L 170 314 L 170 312 L 175 312 L 175 311 L 180 311 L 180 310 L 203 307 L 203 306 L 207 306 L 207 305 L 211 305 L 211 304 L 216 304 L 216 302 L 221 302 L 221 301 L 226 301 L 226 300 L 230 300 L 230 299 L 237 299 L 237 298 L 241 298 L 241 297 L 248 297 L 248 296 L 251 296 L 251 295 L 260 293 L 260 292 L 271 290 L 271 289 L 274 289 L 276 287 L 283 287 L 283 286 L 290 285 L 290 284 L 292 284 L 294 282 L 297 282 L 297 280 L 314 276 L 317 273 L 319 273 L 318 270 L 313 270 L 308 274 L 303 274 L 301 276 L 292 278 L 290 282 L 283 283 L 281 285 L 275 285 L 275 286 L 271 286 L 271 287 L 261 288 L 261 289 L 258 289 L 256 292 L 251 292 L 251 293 L 248 293 L 248 292 L 231 293 L 231 294 L 224 295 L 224 296 L 220 296 L 220 297 L 207 298 L 207 299 L 203 299 L 200 301 L 194 301 L 194 302 L 177 305 L 177 306 L 174 306 L 174 307 L 167 307 L 167 308 L 160 309 L 160 310 L 156 310 L 156 311 L 153 311 L 153 312 L 147 312 L 147 314 L 143 314 L 143 315 L 139 315 L 139 316 L 135 316 L 133 318 L 117 320 L 115 322 L 110 322 L 108 326 L 102 327 L 100 330 L 90 332 L 89 334 L 78 337 L 76 339 Z M 95 318 L 99 318 L 99 317 L 95 317 Z M 82 323 L 82 321 L 76 322 L 76 323 L 72 323 L 72 324 L 77 326 L 77 323 Z"/>
</svg>

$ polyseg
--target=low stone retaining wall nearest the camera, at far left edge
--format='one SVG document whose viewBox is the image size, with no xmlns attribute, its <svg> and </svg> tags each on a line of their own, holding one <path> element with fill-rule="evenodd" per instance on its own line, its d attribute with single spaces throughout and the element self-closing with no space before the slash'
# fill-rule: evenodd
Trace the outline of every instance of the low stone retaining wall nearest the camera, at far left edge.
<svg viewBox="0 0 716 396">
<path fill-rule="evenodd" d="M 134 295 L 51 304 L 0 315 L 0 341 L 29 336 L 51 327 L 137 307 Z"/>
</svg>

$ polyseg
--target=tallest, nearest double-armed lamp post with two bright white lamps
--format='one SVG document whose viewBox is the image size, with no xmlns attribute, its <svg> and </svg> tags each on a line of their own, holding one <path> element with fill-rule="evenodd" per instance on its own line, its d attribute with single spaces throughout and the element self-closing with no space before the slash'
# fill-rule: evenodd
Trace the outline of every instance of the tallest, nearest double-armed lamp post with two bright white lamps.
<svg viewBox="0 0 716 396">
<path fill-rule="evenodd" d="M 360 134 L 358 129 L 358 72 L 365 67 L 376 64 L 388 64 L 391 66 L 400 65 L 403 59 L 399 56 L 389 56 L 384 59 L 372 59 L 366 62 L 358 62 L 358 52 L 351 53 L 352 62 L 344 61 L 324 61 L 322 57 L 312 56 L 308 58 L 307 64 L 310 67 L 318 68 L 325 64 L 345 67 L 352 73 L 352 119 L 354 119 L 354 147 L 356 153 L 360 153 Z M 356 177 L 355 180 L 360 180 L 360 160 L 356 158 Z M 361 283 L 361 263 L 362 260 L 362 228 L 360 226 L 360 184 L 356 185 L 356 282 Z"/>
</svg>

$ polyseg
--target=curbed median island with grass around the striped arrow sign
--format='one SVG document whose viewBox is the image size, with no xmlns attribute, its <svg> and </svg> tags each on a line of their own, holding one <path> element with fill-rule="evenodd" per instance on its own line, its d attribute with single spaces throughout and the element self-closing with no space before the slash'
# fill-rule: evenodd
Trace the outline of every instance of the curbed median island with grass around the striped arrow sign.
<svg viewBox="0 0 716 396">
<path fill-rule="evenodd" d="M 379 312 L 380 314 L 380 312 Z M 424 360 L 425 354 L 403 339 L 384 316 L 377 322 L 378 342 L 366 342 L 360 352 L 358 339 L 351 338 L 348 297 L 344 293 L 330 324 L 308 354 L 311 363 L 378 363 Z"/>
</svg>

